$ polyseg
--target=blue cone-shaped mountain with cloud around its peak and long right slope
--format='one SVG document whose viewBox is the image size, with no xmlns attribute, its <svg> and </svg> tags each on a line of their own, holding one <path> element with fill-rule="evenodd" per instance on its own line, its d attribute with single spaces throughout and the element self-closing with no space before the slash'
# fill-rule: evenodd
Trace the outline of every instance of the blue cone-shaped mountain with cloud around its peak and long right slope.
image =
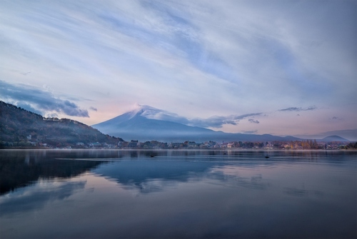
<svg viewBox="0 0 357 239">
<path fill-rule="evenodd" d="M 118 136 L 126 141 L 138 140 L 183 142 L 196 141 L 291 141 L 298 140 L 292 136 L 279 137 L 269 134 L 255 135 L 242 133 L 224 133 L 208 128 L 188 126 L 188 119 L 176 113 L 163 111 L 151 106 L 137 105 L 133 111 L 93 125 L 103 133 Z"/>
</svg>

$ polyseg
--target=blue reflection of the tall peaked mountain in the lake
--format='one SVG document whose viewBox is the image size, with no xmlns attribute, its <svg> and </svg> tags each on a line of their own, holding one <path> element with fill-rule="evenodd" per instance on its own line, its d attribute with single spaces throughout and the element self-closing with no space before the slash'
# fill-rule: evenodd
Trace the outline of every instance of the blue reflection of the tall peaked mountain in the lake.
<svg viewBox="0 0 357 239">
<path fill-rule="evenodd" d="M 140 193 L 152 193 L 164 190 L 176 183 L 191 180 L 213 180 L 229 187 L 243 187 L 264 190 L 268 183 L 261 175 L 240 176 L 244 168 L 261 166 L 256 162 L 226 162 L 226 161 L 185 161 L 185 160 L 138 160 L 116 161 L 94 169 L 94 173 L 114 180 L 124 185 L 124 188 L 139 189 Z M 270 166 L 273 163 L 268 163 Z M 224 170 L 231 169 L 233 175 L 226 175 Z"/>
</svg>

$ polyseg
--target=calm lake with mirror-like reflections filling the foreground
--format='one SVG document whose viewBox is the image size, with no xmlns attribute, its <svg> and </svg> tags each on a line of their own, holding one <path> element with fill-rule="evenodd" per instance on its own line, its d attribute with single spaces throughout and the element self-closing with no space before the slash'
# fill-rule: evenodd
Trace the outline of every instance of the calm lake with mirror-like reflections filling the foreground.
<svg viewBox="0 0 357 239">
<path fill-rule="evenodd" d="M 0 150 L 0 238 L 356 238 L 357 151 Z"/>
</svg>

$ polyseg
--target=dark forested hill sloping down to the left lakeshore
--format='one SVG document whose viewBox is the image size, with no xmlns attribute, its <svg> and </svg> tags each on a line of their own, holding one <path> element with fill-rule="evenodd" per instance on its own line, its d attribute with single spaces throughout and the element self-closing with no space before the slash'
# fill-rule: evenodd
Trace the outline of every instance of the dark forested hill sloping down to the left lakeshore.
<svg viewBox="0 0 357 239">
<path fill-rule="evenodd" d="M 4 101 L 0 101 L 0 143 L 26 146 L 46 143 L 51 146 L 71 146 L 82 143 L 117 144 L 121 138 L 104 135 L 95 128 L 68 118 L 44 118 Z"/>
</svg>

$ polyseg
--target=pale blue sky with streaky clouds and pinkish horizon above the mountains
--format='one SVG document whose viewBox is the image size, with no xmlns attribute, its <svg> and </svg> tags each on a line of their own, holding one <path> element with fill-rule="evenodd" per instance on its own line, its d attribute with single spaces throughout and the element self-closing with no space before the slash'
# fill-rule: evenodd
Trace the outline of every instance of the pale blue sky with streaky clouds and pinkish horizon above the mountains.
<svg viewBox="0 0 357 239">
<path fill-rule="evenodd" d="M 0 1 L 0 100 L 94 125 L 357 128 L 357 1 Z"/>
</svg>

